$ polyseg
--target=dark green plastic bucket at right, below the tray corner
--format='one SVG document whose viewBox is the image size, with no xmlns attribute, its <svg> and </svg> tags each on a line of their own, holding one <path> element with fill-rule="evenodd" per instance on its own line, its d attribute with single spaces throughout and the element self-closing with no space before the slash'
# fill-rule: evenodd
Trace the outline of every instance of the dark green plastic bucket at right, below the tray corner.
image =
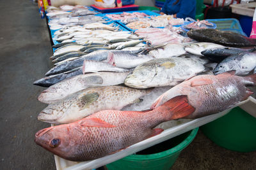
<svg viewBox="0 0 256 170">
<path fill-rule="evenodd" d="M 256 118 L 239 107 L 200 129 L 214 143 L 228 150 L 256 151 Z"/>
</svg>

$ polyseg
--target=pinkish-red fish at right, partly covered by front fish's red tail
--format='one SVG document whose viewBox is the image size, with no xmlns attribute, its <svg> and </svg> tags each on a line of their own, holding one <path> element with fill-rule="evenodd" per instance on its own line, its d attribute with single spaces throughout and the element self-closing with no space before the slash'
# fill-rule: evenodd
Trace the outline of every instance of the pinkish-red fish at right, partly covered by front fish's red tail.
<svg viewBox="0 0 256 170">
<path fill-rule="evenodd" d="M 256 74 L 235 76 L 236 71 L 222 74 L 194 76 L 159 96 L 151 109 L 175 96 L 186 95 L 195 112 L 184 118 L 198 118 L 227 110 L 253 94 L 248 86 L 256 85 Z"/>
</svg>

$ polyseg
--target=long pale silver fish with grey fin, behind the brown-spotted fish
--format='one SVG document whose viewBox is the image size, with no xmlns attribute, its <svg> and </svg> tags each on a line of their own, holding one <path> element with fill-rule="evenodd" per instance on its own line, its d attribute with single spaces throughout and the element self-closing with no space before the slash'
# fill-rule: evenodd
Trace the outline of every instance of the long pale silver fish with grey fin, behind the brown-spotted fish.
<svg viewBox="0 0 256 170">
<path fill-rule="evenodd" d="M 129 73 L 100 72 L 73 76 L 44 90 L 38 97 L 38 101 L 52 103 L 88 87 L 119 85 L 124 83 Z"/>
</svg>

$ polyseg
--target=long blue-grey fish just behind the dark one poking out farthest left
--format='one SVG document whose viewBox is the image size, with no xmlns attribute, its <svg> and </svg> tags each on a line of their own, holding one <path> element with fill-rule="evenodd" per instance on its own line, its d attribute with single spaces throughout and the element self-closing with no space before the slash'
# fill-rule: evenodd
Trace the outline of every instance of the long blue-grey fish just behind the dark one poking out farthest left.
<svg viewBox="0 0 256 170">
<path fill-rule="evenodd" d="M 83 66 L 84 60 L 95 60 L 95 61 L 101 61 L 108 59 L 108 52 L 106 51 L 96 51 L 92 53 L 88 53 L 86 55 L 83 55 L 79 59 L 67 61 L 63 64 L 60 64 L 58 66 L 52 67 L 47 73 L 45 73 L 45 76 L 51 76 L 58 73 L 64 73 L 65 71 L 69 71 L 71 69 L 74 69 L 76 67 Z"/>
</svg>

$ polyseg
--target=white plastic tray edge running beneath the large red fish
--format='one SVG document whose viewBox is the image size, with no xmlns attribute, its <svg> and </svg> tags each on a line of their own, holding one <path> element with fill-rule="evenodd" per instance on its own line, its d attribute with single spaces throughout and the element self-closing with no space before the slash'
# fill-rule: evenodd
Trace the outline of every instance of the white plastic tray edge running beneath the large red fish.
<svg viewBox="0 0 256 170">
<path fill-rule="evenodd" d="M 254 99 L 253 97 L 249 97 L 246 101 L 243 101 L 237 104 L 236 106 L 239 106 L 244 111 L 250 113 L 250 115 L 253 115 L 254 117 L 256 117 L 256 99 Z M 183 120 L 182 122 L 184 121 L 186 122 L 180 125 L 175 125 L 174 127 L 165 129 L 161 134 L 158 134 L 157 136 L 145 139 L 144 141 L 141 141 L 132 146 L 129 146 L 125 150 L 114 153 L 112 155 L 108 155 L 106 157 L 102 157 L 100 159 L 95 159 L 95 160 L 90 160 L 85 162 L 72 162 L 54 155 L 56 168 L 57 170 L 70 170 L 70 169 L 78 170 L 78 169 L 95 169 L 97 167 L 104 166 L 106 164 L 114 162 L 115 160 L 122 159 L 123 157 L 131 155 L 132 153 L 139 152 L 140 150 L 144 150 L 145 148 L 156 145 L 157 143 L 161 143 L 163 141 L 166 141 L 167 139 L 173 138 L 175 136 L 178 136 L 179 134 L 188 132 L 191 129 L 195 129 L 196 127 L 200 127 L 201 125 L 204 125 L 213 120 L 216 120 L 217 118 L 220 118 L 223 115 L 227 114 L 231 109 L 232 108 L 222 111 L 220 113 L 216 113 L 214 115 L 209 115 L 207 117 L 196 118 L 195 120 Z M 170 124 L 170 122 L 171 121 L 165 122 L 163 124 Z"/>
</svg>

